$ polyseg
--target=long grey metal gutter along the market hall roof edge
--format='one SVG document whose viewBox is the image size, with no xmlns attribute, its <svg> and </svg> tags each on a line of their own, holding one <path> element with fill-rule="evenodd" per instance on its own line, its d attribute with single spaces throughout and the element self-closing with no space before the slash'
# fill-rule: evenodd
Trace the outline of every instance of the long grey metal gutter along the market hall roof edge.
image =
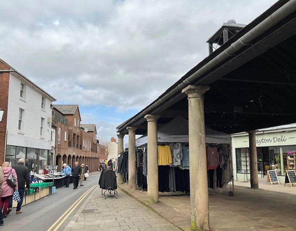
<svg viewBox="0 0 296 231">
<path fill-rule="evenodd" d="M 285 3 L 282 7 L 280 7 L 278 10 L 273 12 L 267 18 L 265 18 L 257 26 L 255 26 L 253 29 L 251 29 L 249 32 L 247 32 L 245 35 L 243 35 L 241 38 L 236 40 L 234 43 L 232 43 L 225 50 L 223 50 L 215 58 L 213 58 L 211 61 L 209 61 L 204 66 L 202 66 L 200 69 L 198 69 L 195 73 L 193 73 L 188 78 L 186 78 L 181 84 L 178 84 L 178 86 L 175 87 L 173 90 L 168 92 L 162 98 L 159 98 L 152 105 L 150 105 L 147 109 L 140 112 L 139 115 L 137 115 L 137 116 L 131 118 L 130 120 L 122 123 L 121 125 L 119 125 L 117 127 L 117 133 L 122 132 L 128 126 L 131 126 L 134 122 L 136 122 L 137 120 L 139 120 L 143 116 L 147 115 L 155 107 L 157 107 L 161 104 L 164 104 L 166 102 L 166 100 L 169 99 L 174 94 L 176 94 L 178 92 L 181 93 L 181 90 L 183 90 L 188 85 L 192 84 L 197 78 L 201 77 L 203 74 L 210 71 L 215 66 L 219 65 L 222 61 L 224 61 L 228 57 L 234 56 L 237 51 L 242 49 L 242 47 L 249 46 L 251 44 L 251 42 L 254 39 L 256 39 L 259 35 L 263 34 L 265 31 L 270 29 L 272 26 L 276 25 L 278 22 L 283 20 L 285 17 L 287 17 L 288 15 L 293 13 L 295 10 L 296 10 L 296 0 L 290 0 L 287 3 Z M 203 79 L 205 79 L 205 78 L 206 77 L 204 77 Z M 202 81 L 202 80 L 200 80 L 200 81 Z"/>
</svg>

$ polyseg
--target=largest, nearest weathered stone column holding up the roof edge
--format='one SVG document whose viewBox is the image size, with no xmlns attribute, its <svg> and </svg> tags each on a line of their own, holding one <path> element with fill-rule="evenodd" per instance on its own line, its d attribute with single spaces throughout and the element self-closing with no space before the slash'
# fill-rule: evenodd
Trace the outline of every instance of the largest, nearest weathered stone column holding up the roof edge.
<svg viewBox="0 0 296 231">
<path fill-rule="evenodd" d="M 204 93 L 208 86 L 189 85 L 188 95 L 191 230 L 210 230 Z"/>
</svg>

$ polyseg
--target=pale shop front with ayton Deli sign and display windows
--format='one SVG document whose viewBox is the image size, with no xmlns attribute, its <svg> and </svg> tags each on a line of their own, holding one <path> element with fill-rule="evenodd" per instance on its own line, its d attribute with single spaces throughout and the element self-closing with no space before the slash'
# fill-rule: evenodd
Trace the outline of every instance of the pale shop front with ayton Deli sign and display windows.
<svg viewBox="0 0 296 231">
<path fill-rule="evenodd" d="M 249 181 L 248 133 L 234 134 L 231 141 L 234 180 Z M 295 170 L 296 125 L 259 130 L 256 133 L 256 146 L 259 178 L 265 178 L 268 170 L 275 170 L 280 183 L 284 184 L 286 171 Z"/>
</svg>

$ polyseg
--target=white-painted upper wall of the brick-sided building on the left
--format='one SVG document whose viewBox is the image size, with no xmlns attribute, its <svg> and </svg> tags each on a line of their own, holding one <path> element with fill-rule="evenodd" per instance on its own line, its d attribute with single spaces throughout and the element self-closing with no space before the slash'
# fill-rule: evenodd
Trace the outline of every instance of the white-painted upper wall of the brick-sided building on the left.
<svg viewBox="0 0 296 231">
<path fill-rule="evenodd" d="M 21 83 L 25 84 L 25 99 L 20 97 Z M 41 97 L 45 97 L 45 110 L 41 109 Z M 8 91 L 7 145 L 51 149 L 52 101 L 35 86 L 11 73 Z M 24 109 L 23 129 L 18 130 L 19 108 Z M 41 117 L 44 118 L 43 135 L 40 136 Z"/>
</svg>

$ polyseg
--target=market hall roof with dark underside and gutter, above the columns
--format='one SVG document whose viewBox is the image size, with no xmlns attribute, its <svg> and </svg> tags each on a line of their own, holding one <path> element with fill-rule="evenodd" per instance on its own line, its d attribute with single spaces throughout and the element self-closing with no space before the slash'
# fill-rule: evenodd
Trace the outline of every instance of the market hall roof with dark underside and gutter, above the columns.
<svg viewBox="0 0 296 231">
<path fill-rule="evenodd" d="M 296 0 L 280 0 L 187 72 L 141 112 L 117 127 L 147 133 L 147 114 L 158 126 L 188 118 L 182 90 L 210 86 L 204 94 L 205 124 L 227 134 L 296 122 Z"/>
</svg>

